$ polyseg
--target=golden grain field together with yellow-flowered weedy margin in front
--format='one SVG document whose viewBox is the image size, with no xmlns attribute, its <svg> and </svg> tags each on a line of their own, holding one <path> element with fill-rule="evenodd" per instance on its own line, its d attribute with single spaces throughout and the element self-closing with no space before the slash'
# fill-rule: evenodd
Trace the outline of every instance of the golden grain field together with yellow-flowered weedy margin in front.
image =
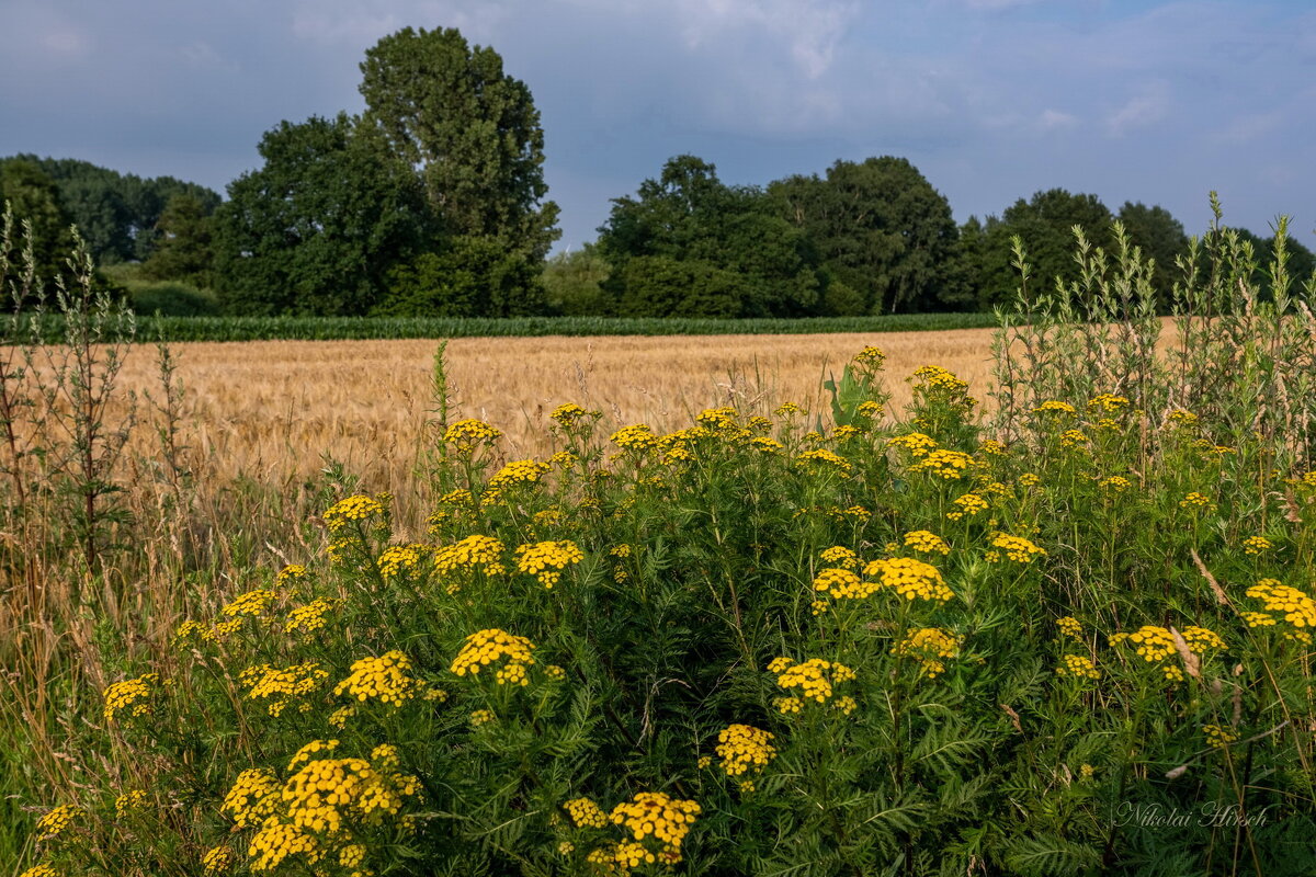
<svg viewBox="0 0 1316 877">
<path fill-rule="evenodd" d="M 1079 258 L 995 331 L 438 351 L 88 284 L 0 348 L 0 861 L 1311 873 L 1316 280 Z"/>
</svg>

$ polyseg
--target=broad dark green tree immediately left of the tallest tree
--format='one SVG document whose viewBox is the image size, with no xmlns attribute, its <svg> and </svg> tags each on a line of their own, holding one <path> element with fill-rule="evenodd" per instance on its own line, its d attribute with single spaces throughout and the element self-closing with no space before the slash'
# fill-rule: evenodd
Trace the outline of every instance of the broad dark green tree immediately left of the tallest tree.
<svg viewBox="0 0 1316 877">
<path fill-rule="evenodd" d="M 229 184 L 216 213 L 220 297 L 232 313 L 358 316 L 432 239 L 409 166 L 346 113 L 282 122 L 261 139 L 265 166 Z"/>
</svg>

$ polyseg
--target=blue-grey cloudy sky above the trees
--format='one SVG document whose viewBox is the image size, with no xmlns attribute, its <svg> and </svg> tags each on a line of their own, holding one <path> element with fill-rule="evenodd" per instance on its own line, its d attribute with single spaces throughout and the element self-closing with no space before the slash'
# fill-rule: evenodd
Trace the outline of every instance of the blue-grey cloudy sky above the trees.
<svg viewBox="0 0 1316 877">
<path fill-rule="evenodd" d="M 404 26 L 492 46 L 541 112 L 558 249 L 666 159 L 725 183 L 909 159 L 955 218 L 1054 187 L 1316 249 L 1312 0 L 0 0 L 0 155 L 220 192 L 282 120 L 361 112 Z"/>
</svg>

